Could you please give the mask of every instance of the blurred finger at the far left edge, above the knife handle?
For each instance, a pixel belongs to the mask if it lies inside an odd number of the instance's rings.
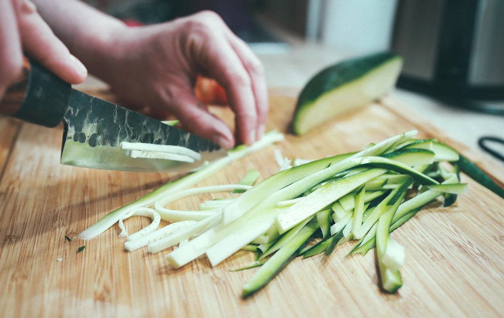
[[[14,9],[10,1],[0,1],[0,99],[21,72],[22,49]]]

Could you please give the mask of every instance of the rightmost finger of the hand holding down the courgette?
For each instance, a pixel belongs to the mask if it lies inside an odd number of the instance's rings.
[[[259,58],[250,50],[250,48],[241,39],[229,31],[229,43],[240,58],[248,76],[251,80],[254,98],[256,100],[257,111],[257,140],[263,137],[265,123],[268,118],[268,89],[264,79],[264,69]]]

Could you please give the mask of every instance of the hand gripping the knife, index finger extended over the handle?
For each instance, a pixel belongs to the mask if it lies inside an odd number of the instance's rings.
[[[64,81],[84,81],[86,68],[52,33],[33,3],[0,1],[0,21],[0,99],[21,73],[23,52]]]

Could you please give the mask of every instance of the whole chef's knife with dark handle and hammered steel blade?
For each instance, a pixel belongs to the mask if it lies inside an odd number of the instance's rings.
[[[210,140],[72,89],[37,62],[25,60],[23,76],[11,85],[0,110],[25,121],[55,127],[64,122],[61,163],[123,171],[189,171],[226,155]],[[174,145],[201,154],[193,163],[132,158],[121,142]]]

